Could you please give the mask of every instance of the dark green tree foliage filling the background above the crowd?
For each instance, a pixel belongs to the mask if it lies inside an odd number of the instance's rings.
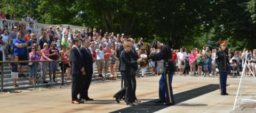
[[[256,48],[256,0],[4,0],[0,8],[41,23],[157,38],[175,49],[218,48],[220,40],[232,49]]]

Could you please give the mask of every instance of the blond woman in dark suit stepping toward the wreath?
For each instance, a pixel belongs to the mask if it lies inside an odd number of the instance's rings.
[[[131,42],[126,42],[124,44],[124,50],[122,51],[120,55],[120,60],[121,60],[121,67],[120,67],[120,72],[123,75],[124,81],[126,83],[125,85],[125,101],[126,105],[133,106],[133,102],[135,101],[134,97],[134,92],[132,90],[132,83],[131,83],[131,68],[132,67],[138,67],[138,63],[142,62],[143,59],[139,60],[131,60],[131,55],[130,51],[132,48],[132,43]],[[122,89],[121,89],[122,90]]]

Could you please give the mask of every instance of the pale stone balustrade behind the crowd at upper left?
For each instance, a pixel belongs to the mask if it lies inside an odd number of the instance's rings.
[[[8,25],[8,29],[11,30],[12,27],[14,26],[15,22],[19,22],[19,24],[21,23],[25,23],[26,24],[26,28],[29,27],[29,22],[22,22],[22,21],[16,21],[16,20],[7,20],[7,19],[1,19],[0,20],[0,25],[2,27],[3,25],[3,20],[5,20],[7,22]],[[62,34],[64,34],[64,32],[66,31],[66,28],[69,26],[73,32],[75,32],[76,30],[78,31],[82,31],[83,28],[85,28],[86,32],[87,32],[87,27],[80,27],[80,26],[76,26],[76,25],[69,25],[69,24],[44,24],[44,23],[34,23],[34,33],[36,34],[37,37],[41,36],[41,29],[49,29],[50,25],[52,25],[53,30],[55,27],[59,26],[61,29],[61,26],[63,27],[62,30]],[[64,35],[63,35],[64,36]]]

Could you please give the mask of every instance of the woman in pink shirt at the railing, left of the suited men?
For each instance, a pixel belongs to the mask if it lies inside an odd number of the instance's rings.
[[[43,45],[43,49],[41,50],[41,58],[40,60],[52,60],[49,58],[49,50],[48,50],[48,44],[47,43],[44,43]],[[43,76],[43,83],[48,83],[46,82],[46,70],[47,70],[47,67],[48,67],[48,63],[47,62],[41,62],[40,63],[41,65],[41,75]],[[51,76],[50,76],[51,77]]]

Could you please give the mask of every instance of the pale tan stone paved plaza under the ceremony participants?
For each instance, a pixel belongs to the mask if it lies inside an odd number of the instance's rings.
[[[94,101],[71,104],[70,86],[55,86],[52,89],[22,90],[21,93],[0,95],[0,112],[234,112],[233,104],[239,83],[238,78],[228,79],[230,95],[219,94],[218,77],[174,76],[173,92],[175,106],[157,105],[159,76],[137,79],[137,98],[141,103],[126,106],[124,101],[116,103],[113,95],[120,89],[120,81],[95,81],[90,87],[89,97]],[[245,78],[244,98],[255,98],[256,82]],[[238,112],[256,112],[253,102],[243,104]]]

